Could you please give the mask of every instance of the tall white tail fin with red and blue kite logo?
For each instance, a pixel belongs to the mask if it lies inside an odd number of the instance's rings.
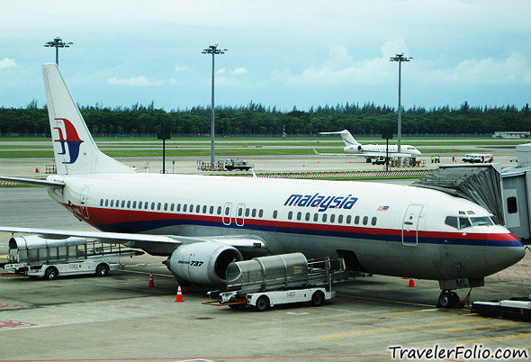
[[[55,63],[42,65],[58,175],[134,172],[96,146]]]

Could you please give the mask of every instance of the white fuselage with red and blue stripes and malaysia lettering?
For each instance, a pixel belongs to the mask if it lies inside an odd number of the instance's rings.
[[[66,184],[62,193],[50,190],[52,197],[101,231],[253,235],[271,254],[339,255],[354,269],[437,280],[487,276],[523,256],[500,225],[464,231],[445,222],[462,213],[488,217],[481,206],[419,187],[155,174],[49,180]]]

